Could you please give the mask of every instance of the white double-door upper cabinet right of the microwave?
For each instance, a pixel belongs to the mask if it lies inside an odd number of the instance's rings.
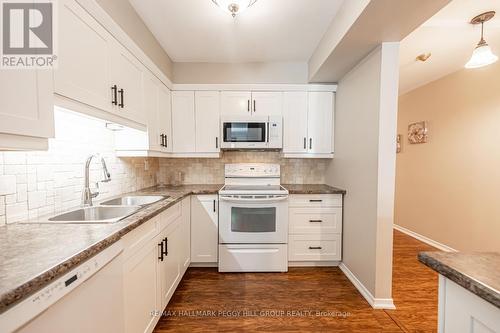
[[[284,93],[285,157],[333,156],[333,98],[332,92]]]

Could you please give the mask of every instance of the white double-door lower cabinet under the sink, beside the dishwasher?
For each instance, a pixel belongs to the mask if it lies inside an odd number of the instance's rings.
[[[152,332],[190,263],[190,198],[123,237],[125,332]]]

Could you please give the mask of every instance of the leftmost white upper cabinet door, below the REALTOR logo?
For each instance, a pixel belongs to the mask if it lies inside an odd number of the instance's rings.
[[[2,70],[0,133],[54,136],[51,70]]]

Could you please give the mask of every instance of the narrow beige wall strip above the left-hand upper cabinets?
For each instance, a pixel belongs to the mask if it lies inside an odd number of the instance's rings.
[[[97,3],[172,81],[172,60],[128,0],[97,0]]]

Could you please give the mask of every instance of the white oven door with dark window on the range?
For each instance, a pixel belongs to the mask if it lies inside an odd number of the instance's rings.
[[[219,243],[286,244],[288,196],[219,196]]]

